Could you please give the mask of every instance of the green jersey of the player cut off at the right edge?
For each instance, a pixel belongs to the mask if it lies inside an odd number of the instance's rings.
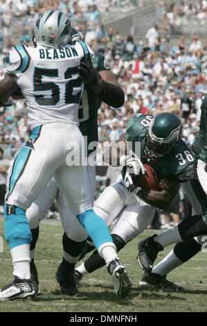
[[[199,133],[191,145],[192,151],[200,160],[207,162],[207,96],[201,103],[201,121]]]

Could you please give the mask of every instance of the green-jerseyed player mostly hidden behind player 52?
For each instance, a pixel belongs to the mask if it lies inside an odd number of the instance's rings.
[[[75,31],[72,31],[72,34]],[[77,39],[77,31],[72,38],[72,41]],[[80,37],[79,37],[80,40]],[[91,89],[84,89],[82,95],[82,105],[79,108],[79,117],[80,117],[80,131],[82,135],[87,136],[87,143],[98,145],[98,108],[102,101],[109,105],[113,105],[116,108],[119,108],[124,101],[124,92],[118,85],[118,82],[115,76],[111,73],[109,64],[102,53],[94,53],[92,58],[93,67],[99,71],[102,80],[109,81],[111,87],[114,89],[113,96],[110,99],[107,99],[107,96],[102,97],[102,100],[95,92],[91,92]],[[123,96],[122,93],[123,92]],[[112,94],[111,94],[112,95]],[[118,97],[118,99],[117,99]],[[123,100],[121,99],[123,97]],[[114,101],[112,103],[111,101]],[[82,112],[84,114],[82,115]],[[96,147],[96,146],[95,146]],[[94,151],[87,151],[87,155],[94,155]],[[87,175],[89,177],[90,185],[90,194],[91,194],[91,203],[93,203],[94,193],[95,193],[95,184],[96,184],[96,166],[87,165]],[[62,263],[57,269],[56,280],[60,284],[62,293],[67,295],[74,295],[78,293],[77,285],[73,282],[73,266],[78,261],[82,249],[84,248],[85,241],[82,241],[80,237],[79,227],[77,228],[77,219],[73,216],[69,205],[67,205],[66,200],[62,193],[58,191],[57,185],[54,178],[48,183],[46,188],[39,194],[35,202],[27,209],[26,217],[30,223],[30,229],[33,234],[33,241],[30,244],[30,272],[33,284],[36,284],[38,288],[38,275],[37,268],[35,266],[35,246],[39,236],[39,222],[44,218],[45,213],[51,207],[53,200],[57,201],[58,212],[60,212],[60,219],[64,227],[64,235],[62,238],[63,243],[63,258]],[[85,232],[85,239],[88,235]],[[121,284],[120,284],[121,286]],[[39,291],[37,289],[37,291]]]

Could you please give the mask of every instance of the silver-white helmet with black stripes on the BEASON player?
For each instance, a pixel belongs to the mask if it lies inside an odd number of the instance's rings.
[[[35,40],[39,45],[59,48],[67,44],[71,37],[71,22],[59,10],[48,10],[42,14],[35,25]]]

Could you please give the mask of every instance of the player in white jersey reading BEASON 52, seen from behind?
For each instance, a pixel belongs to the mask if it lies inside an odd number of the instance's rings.
[[[36,46],[12,48],[8,53],[6,75],[0,82],[0,103],[7,101],[18,86],[21,88],[32,130],[8,177],[5,236],[10,246],[15,280],[1,289],[0,300],[35,295],[30,281],[32,236],[26,209],[53,177],[66,196],[73,215],[104,257],[114,284],[117,279],[125,283],[125,291],[117,294],[123,297],[132,289],[107,224],[93,212],[87,172],[80,164],[84,146],[78,128],[80,96],[84,85],[95,87],[96,92],[101,93],[107,92],[107,83],[103,86],[96,71],[85,69],[93,55],[89,46],[81,41],[68,44],[70,37],[71,24],[64,13],[58,10],[44,12],[35,26]],[[80,157],[80,161],[73,165],[68,160],[70,151]],[[81,233],[84,239],[85,234],[80,228]]]

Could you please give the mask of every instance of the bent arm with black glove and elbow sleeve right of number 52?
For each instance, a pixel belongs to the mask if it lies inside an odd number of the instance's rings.
[[[120,108],[125,103],[125,93],[110,71],[100,71],[98,73],[91,60],[85,59],[81,60],[78,71],[84,80],[85,86],[91,87],[103,102],[113,108]]]

